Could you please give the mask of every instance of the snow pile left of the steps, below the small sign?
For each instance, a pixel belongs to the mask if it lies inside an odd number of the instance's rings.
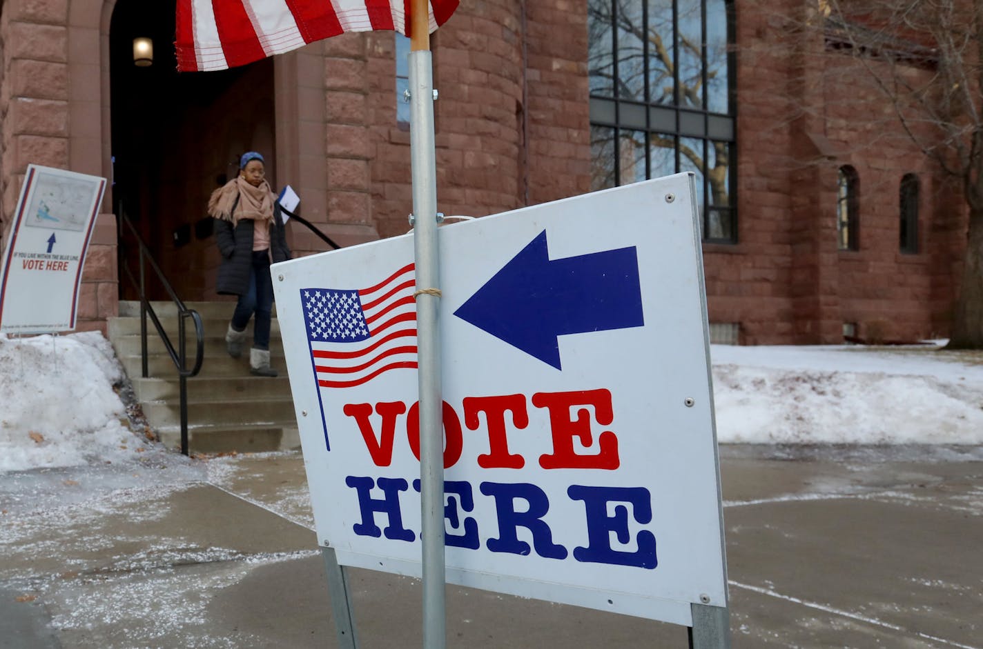
[[[0,471],[132,460],[145,440],[130,431],[113,390],[124,378],[99,332],[0,337]]]

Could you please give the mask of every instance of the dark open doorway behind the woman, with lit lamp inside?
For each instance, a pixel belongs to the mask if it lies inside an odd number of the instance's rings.
[[[218,263],[205,206],[238,171],[238,155],[260,150],[275,185],[273,64],[178,73],[174,2],[119,0],[110,24],[113,211],[133,221],[179,297],[214,297]],[[134,38],[149,37],[153,61],[134,61]],[[136,272],[137,247],[120,241],[120,263]],[[167,298],[148,284],[151,299]],[[120,297],[136,291],[120,268]]]

